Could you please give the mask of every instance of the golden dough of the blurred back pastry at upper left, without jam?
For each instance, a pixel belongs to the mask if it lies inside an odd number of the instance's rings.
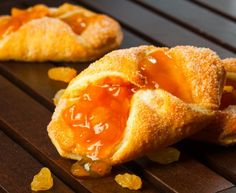
[[[96,19],[80,35],[58,18],[34,19],[0,38],[0,60],[92,61],[119,47],[123,33],[118,22],[80,6],[65,6]],[[53,14],[56,8],[49,10]],[[1,16],[0,21],[8,17]]]

